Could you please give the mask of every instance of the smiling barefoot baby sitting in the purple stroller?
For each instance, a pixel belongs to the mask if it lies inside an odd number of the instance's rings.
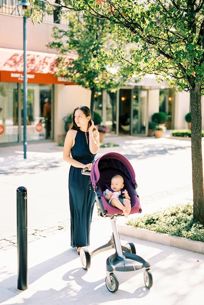
[[[111,190],[106,189],[103,195],[112,207],[122,210],[127,218],[131,211],[131,202],[128,191],[121,191],[123,188],[124,179],[121,175],[116,174],[111,178]]]

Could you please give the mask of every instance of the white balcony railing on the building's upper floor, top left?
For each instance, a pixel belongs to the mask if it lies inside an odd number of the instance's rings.
[[[56,0],[57,2],[57,0]],[[16,0],[0,0],[0,13],[2,14],[8,14],[8,15],[14,15],[19,16],[17,4],[19,1]],[[40,3],[40,1],[37,3],[40,8],[44,8],[45,4],[43,2]],[[50,23],[57,23],[62,25],[68,25],[68,19],[61,17],[60,19],[57,19],[57,10],[53,13],[43,13],[42,20],[44,22],[50,22]]]

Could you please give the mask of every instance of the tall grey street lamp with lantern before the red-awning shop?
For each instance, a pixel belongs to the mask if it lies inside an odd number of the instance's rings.
[[[23,18],[23,152],[24,159],[27,153],[27,28],[26,20],[32,14],[31,4],[22,1],[17,4],[19,16]],[[21,8],[21,12],[19,10]]]

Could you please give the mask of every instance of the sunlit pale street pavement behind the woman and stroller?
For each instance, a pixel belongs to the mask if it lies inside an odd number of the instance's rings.
[[[117,147],[100,149],[97,157],[119,152],[132,164],[143,213],[177,203],[192,202],[190,141],[166,138],[107,137]],[[56,143],[0,148],[0,248],[16,247],[16,195],[28,193],[28,239],[69,228],[67,180],[69,165]],[[179,171],[178,171],[179,169]],[[165,198],[165,200],[164,200]],[[137,214],[135,215],[137,217]],[[125,218],[120,219],[120,222]]]

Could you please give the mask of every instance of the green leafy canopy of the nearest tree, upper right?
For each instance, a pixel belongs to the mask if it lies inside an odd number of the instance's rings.
[[[128,70],[132,72],[132,75],[142,74],[143,71],[143,75],[155,73],[159,78],[162,75],[171,84],[179,87],[182,84],[182,89],[185,90],[188,90],[192,83],[198,83],[201,80],[204,86],[202,78],[204,6],[199,6],[199,2],[194,0],[181,3],[161,0],[151,2],[145,0],[142,3],[132,0],[65,0],[64,4],[63,11],[65,12],[67,9],[69,18],[71,10],[81,13],[89,11],[93,15],[92,20],[91,17],[89,19],[86,17],[84,24],[77,16],[75,16],[75,20],[71,18],[70,27],[73,29],[75,27],[75,32],[70,31],[71,40],[66,46],[67,50],[74,49],[74,45],[80,45],[80,38],[86,51],[82,52],[82,48],[81,51],[78,48],[77,53],[79,56],[92,57],[92,66],[104,69],[107,63],[110,65],[111,61],[115,60],[119,63],[123,62],[124,72],[122,72],[122,66],[119,70],[123,75],[126,75]],[[80,29],[78,33],[77,19]],[[106,28],[103,27],[103,24],[106,24]],[[97,39],[97,28],[101,45]],[[89,36],[85,29],[88,30]],[[101,30],[104,34],[106,32],[104,37],[108,35],[108,31],[110,35],[111,33],[115,35],[117,31],[120,39],[125,40],[126,43],[123,47],[117,43],[112,46],[109,44],[111,41],[109,38],[106,38],[108,43],[105,43],[100,34]],[[129,44],[133,46],[131,55]],[[60,48],[59,45],[56,47]],[[101,49],[107,50],[108,48],[110,50],[106,55],[101,52]],[[87,50],[93,52],[89,53]],[[76,50],[74,51],[76,52]],[[63,50],[63,52],[65,51]],[[97,61],[97,64],[93,64],[94,60]],[[182,78],[183,80],[181,80]]]

